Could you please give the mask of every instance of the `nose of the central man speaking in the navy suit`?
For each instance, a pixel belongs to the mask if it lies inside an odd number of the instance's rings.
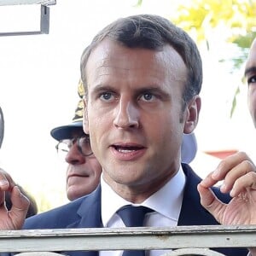
[[[139,126],[139,110],[135,104],[120,100],[113,125],[123,129],[137,128]]]

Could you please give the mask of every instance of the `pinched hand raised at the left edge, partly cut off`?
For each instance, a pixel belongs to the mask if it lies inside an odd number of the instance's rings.
[[[5,207],[5,191],[10,191],[12,207]],[[15,185],[12,177],[0,169],[0,230],[19,230],[24,224],[29,201]]]

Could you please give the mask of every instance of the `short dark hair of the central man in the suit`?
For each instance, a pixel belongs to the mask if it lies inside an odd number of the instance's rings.
[[[96,34],[81,56],[81,78],[84,91],[87,91],[85,67],[90,53],[104,38],[110,38],[129,48],[161,50],[170,44],[183,58],[188,70],[188,78],[183,91],[183,102],[198,95],[201,91],[202,65],[201,55],[192,38],[170,20],[158,15],[132,15],[113,21]]]

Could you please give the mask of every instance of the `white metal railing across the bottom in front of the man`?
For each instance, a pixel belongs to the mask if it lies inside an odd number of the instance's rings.
[[[0,231],[1,253],[176,248],[168,255],[222,255],[207,248],[255,245],[256,225]]]

